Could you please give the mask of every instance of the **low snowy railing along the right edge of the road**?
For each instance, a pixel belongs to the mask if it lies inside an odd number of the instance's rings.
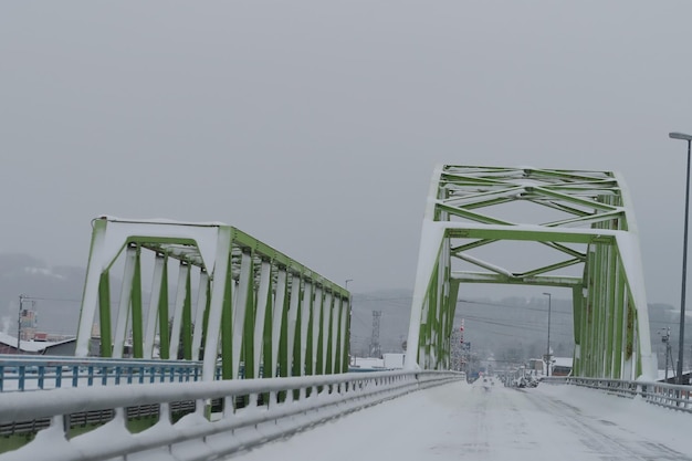
[[[692,386],[579,377],[545,378],[544,381],[555,384],[565,383],[591,389],[600,389],[623,397],[639,397],[649,404],[692,412]]]

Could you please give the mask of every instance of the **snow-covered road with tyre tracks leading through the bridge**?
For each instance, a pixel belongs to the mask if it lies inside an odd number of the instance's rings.
[[[574,386],[455,383],[390,400],[232,458],[690,460],[692,415]]]

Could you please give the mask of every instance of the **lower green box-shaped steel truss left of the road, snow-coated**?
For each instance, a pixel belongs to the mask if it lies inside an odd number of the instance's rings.
[[[111,276],[116,266],[122,280]],[[201,357],[205,380],[214,379],[218,362],[223,379],[342,373],[349,300],[233,227],[102,217],[93,221],[76,355]],[[99,350],[90,350],[93,337]]]

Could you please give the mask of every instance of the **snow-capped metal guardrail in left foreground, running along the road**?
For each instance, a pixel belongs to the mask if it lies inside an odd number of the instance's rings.
[[[306,427],[462,378],[453,371],[378,371],[295,378],[63,388],[0,395],[0,426],[49,420],[27,446],[0,461],[214,460]],[[221,402],[212,410],[212,402]],[[242,405],[239,405],[242,401]],[[171,422],[174,406],[192,412]],[[127,430],[133,409],[154,409],[158,422]],[[74,438],[77,415],[112,411],[112,420]]]

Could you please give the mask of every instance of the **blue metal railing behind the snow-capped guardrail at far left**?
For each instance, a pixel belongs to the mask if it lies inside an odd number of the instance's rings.
[[[220,368],[217,370],[219,375]],[[201,362],[0,355],[0,392],[119,384],[187,383]]]

